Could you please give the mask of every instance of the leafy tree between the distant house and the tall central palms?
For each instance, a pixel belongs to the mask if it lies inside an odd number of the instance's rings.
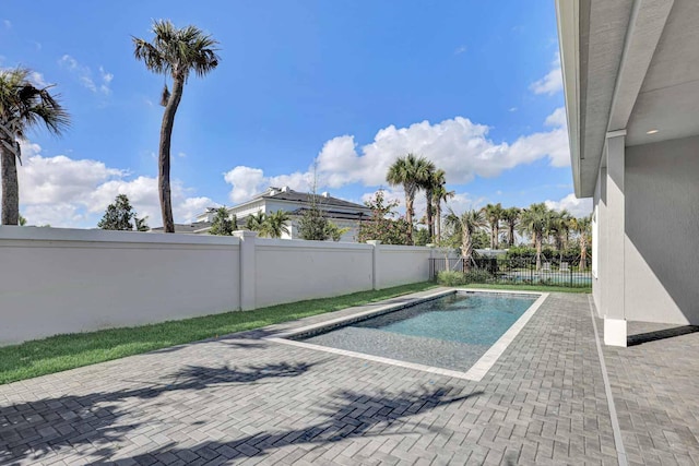
[[[413,243],[407,220],[403,217],[394,218],[398,215],[394,212],[398,201],[386,203],[383,190],[378,190],[365,205],[371,210],[371,218],[359,223],[359,242],[378,240],[384,244]]]

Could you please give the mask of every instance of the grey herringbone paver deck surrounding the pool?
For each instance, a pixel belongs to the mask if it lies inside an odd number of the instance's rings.
[[[617,464],[588,296],[481,382],[261,339],[336,315],[2,385],[0,464]],[[604,348],[630,463],[699,464],[698,350]]]

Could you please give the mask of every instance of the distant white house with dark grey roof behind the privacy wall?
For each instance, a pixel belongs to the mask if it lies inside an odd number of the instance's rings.
[[[252,214],[259,212],[271,214],[276,211],[288,212],[291,216],[291,225],[287,225],[289,234],[283,234],[282,238],[297,239],[299,238],[298,222],[304,211],[310,208],[312,195],[313,194],[294,191],[288,187],[270,188],[251,200],[228,208],[228,213],[232,216],[236,216],[238,228],[242,229],[248,217]],[[366,205],[333,198],[328,192],[317,194],[316,198],[320,210],[330,222],[340,228],[350,228],[350,230],[342,236],[341,241],[356,241],[359,232],[359,223],[371,216],[371,210]],[[215,215],[216,208],[209,207],[197,216],[197,222],[190,225],[176,225],[176,232],[180,232],[178,231],[178,227],[190,229],[191,231],[189,232],[208,232]]]

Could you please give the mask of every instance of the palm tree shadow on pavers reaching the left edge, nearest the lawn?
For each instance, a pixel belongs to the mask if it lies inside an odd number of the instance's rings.
[[[25,457],[39,459],[55,447],[92,443],[99,455],[114,454],[111,443],[140,423],[120,423],[135,401],[166,392],[198,391],[222,384],[251,384],[263,379],[298,377],[316,363],[274,363],[244,368],[188,366],[149,385],[88,395],[67,395],[0,407],[0,464]]]

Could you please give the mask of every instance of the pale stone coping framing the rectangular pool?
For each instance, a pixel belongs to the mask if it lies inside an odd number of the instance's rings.
[[[488,348],[488,350],[481,358],[478,358],[478,360],[465,372],[434,367],[434,366],[420,365],[417,362],[401,361],[398,359],[384,358],[381,356],[367,355],[365,353],[351,351],[347,349],[332,348],[329,346],[315,345],[311,343],[291,339],[294,337],[311,335],[313,333],[317,333],[317,331],[319,330],[331,331],[336,327],[341,327],[354,322],[359,322],[359,321],[364,321],[366,319],[375,318],[389,312],[394,312],[411,306],[418,304],[420,302],[431,301],[434,299],[438,299],[443,296],[448,296],[457,292],[460,292],[460,294],[485,292],[489,295],[534,295],[534,296],[538,296],[538,298],[536,298],[536,300],[526,309],[526,311],[524,311],[524,313],[520,315],[520,318],[512,325],[510,325],[510,327],[500,336],[500,338],[498,338],[498,340],[495,342]],[[534,313],[544,303],[544,301],[548,298],[548,296],[549,296],[548,292],[541,292],[541,291],[479,289],[479,288],[448,288],[448,289],[442,289],[440,291],[433,292],[429,295],[415,297],[414,299],[411,299],[405,302],[387,304],[377,309],[359,311],[351,315],[344,315],[342,318],[331,319],[324,322],[319,322],[319,323],[306,325],[299,328],[294,328],[288,332],[283,332],[271,337],[265,337],[264,339],[269,342],[281,343],[284,345],[296,346],[300,348],[332,353],[335,355],[348,356],[357,359],[364,359],[364,360],[369,360],[374,362],[381,362],[381,363],[398,366],[406,369],[414,369],[423,372],[430,372],[439,375],[451,377],[455,379],[463,379],[463,380],[479,382],[481,380],[483,380],[485,374],[488,373],[490,368],[496,363],[498,358],[505,353],[505,350],[517,337],[517,335],[522,331],[522,328],[524,328],[524,325],[526,325],[530,319],[532,319]],[[405,298],[410,298],[410,297],[411,295],[405,296]]]

